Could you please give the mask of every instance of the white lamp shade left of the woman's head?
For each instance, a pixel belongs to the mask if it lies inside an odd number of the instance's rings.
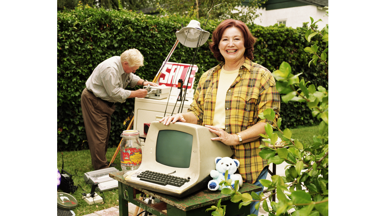
[[[205,44],[210,37],[210,32],[203,30],[201,28],[201,23],[193,19],[187,26],[176,31],[175,35],[181,44],[187,47],[195,48]]]

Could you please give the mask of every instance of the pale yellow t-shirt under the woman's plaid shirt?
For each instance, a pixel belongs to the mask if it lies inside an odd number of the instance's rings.
[[[225,100],[226,93],[229,90],[231,84],[239,74],[239,70],[227,71],[223,67],[220,71],[218,90],[217,90],[217,101],[215,102],[215,110],[213,117],[213,126],[225,129],[226,111],[225,111]]]

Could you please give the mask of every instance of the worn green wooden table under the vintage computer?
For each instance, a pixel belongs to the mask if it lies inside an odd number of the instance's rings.
[[[110,177],[118,180],[119,187],[119,216],[128,216],[128,202],[135,204],[147,210],[148,212],[157,215],[199,215],[199,216],[210,216],[212,211],[207,211],[206,209],[212,205],[216,205],[219,199],[222,198],[221,204],[226,205],[226,215],[237,215],[237,214],[250,214],[250,205],[242,206],[239,209],[239,203],[232,202],[231,196],[226,194],[221,194],[221,191],[211,191],[209,189],[202,189],[190,195],[187,195],[183,198],[178,198],[175,196],[158,193],[143,189],[134,185],[130,185],[128,181],[123,178],[123,171],[112,172],[109,174]],[[250,183],[243,183],[243,186],[240,188],[240,192],[252,191],[257,192],[261,191],[260,186],[256,186]],[[155,198],[158,198],[161,202],[155,204],[147,204],[142,200],[136,198],[137,194],[141,193],[148,194]],[[138,212],[139,213],[139,212]],[[136,216],[136,215],[133,215]]]

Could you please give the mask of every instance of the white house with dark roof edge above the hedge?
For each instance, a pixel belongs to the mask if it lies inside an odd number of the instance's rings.
[[[243,5],[247,5],[250,0],[242,2]],[[309,22],[310,17],[317,21],[318,29],[322,29],[329,23],[329,17],[325,16],[329,5],[328,0],[267,0],[262,8],[258,9],[261,13],[258,18],[254,20],[254,23],[269,26],[278,24],[285,24],[288,27],[302,27],[303,22]]]

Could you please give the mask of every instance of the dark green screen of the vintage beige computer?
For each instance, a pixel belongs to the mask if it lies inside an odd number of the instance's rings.
[[[193,149],[193,135],[178,130],[159,130],[156,139],[156,162],[177,168],[188,168],[191,149]]]

